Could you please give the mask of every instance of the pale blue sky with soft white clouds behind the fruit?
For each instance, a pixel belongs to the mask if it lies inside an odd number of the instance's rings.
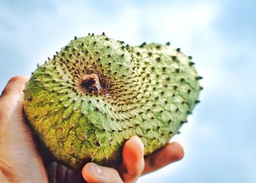
[[[138,182],[256,182],[256,1],[0,0],[0,90],[74,36],[171,42],[204,79],[178,141],[182,161]]]

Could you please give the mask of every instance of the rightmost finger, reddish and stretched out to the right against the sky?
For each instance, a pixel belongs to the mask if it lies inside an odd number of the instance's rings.
[[[184,150],[179,143],[169,143],[165,147],[145,158],[145,169],[143,174],[155,171],[167,164],[173,163],[174,161],[178,161],[182,159],[183,156]]]

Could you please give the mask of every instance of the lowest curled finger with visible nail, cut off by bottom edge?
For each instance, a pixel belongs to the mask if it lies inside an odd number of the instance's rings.
[[[123,182],[120,175],[114,168],[99,166],[95,163],[87,163],[82,170],[84,179],[90,182]]]

